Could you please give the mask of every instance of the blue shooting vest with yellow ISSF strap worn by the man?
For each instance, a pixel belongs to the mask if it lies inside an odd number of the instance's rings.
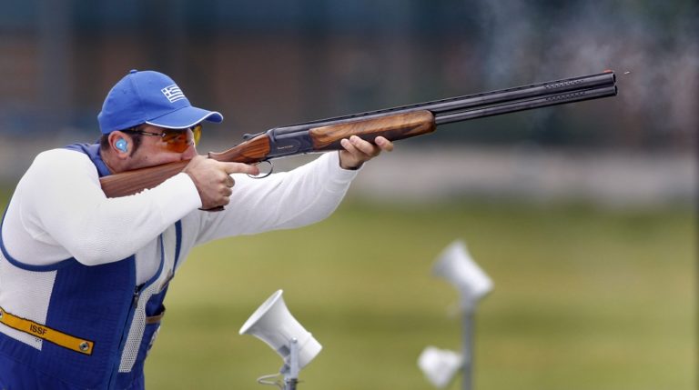
[[[100,177],[110,174],[99,155],[99,145],[66,148],[88,155]],[[46,322],[34,323],[22,318],[21,313],[13,313],[12,308],[0,307],[0,331],[8,325],[37,338],[65,334],[69,340],[56,344],[43,338],[38,349],[0,332],[0,389],[143,388],[144,361],[157,335],[165,311],[167,285],[179,257],[181,223],[177,222],[171,235],[176,245],[175,255],[166,267],[163,235],[158,238],[157,273],[144,285],[136,282],[136,255],[105,265],[87,266],[75,258],[55,265],[28,265],[7,253],[0,235],[0,249],[5,257],[0,261],[18,268],[13,272],[20,273],[28,282],[22,284],[23,291],[13,294],[31,295],[32,277],[55,273]],[[0,292],[2,289],[0,285]],[[22,324],[28,324],[29,330],[19,329]],[[71,341],[70,337],[81,343]]]

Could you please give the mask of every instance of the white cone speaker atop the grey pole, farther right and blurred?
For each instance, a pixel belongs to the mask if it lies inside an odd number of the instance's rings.
[[[459,290],[464,307],[475,305],[492,290],[491,278],[473,261],[461,240],[454,241],[442,251],[432,272]]]

